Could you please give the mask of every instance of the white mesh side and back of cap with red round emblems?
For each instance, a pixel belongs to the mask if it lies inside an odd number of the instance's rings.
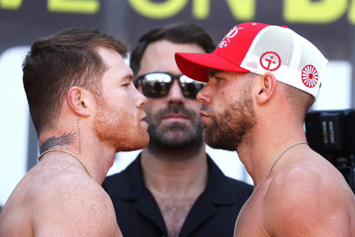
[[[277,56],[265,54],[267,52],[279,55],[280,65]],[[271,71],[276,80],[317,98],[327,63],[328,60],[307,39],[291,29],[268,26],[257,34],[240,66],[260,75]],[[304,70],[307,65],[310,66]]]

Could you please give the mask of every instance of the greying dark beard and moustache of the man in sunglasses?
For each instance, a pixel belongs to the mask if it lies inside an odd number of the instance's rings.
[[[162,119],[169,113],[185,115],[191,120],[192,125],[181,122],[173,122],[162,125]],[[147,110],[149,144],[147,149],[157,158],[170,158],[184,160],[193,158],[200,152],[202,140],[202,123],[200,116],[191,109],[181,105],[170,105],[160,109],[156,114]]]

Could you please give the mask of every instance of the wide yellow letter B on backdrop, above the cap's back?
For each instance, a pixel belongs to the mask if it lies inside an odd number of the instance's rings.
[[[284,0],[283,17],[292,23],[331,23],[342,17],[348,0]]]

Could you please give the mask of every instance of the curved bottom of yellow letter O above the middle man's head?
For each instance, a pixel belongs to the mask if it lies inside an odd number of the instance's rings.
[[[153,2],[151,0],[128,0],[131,7],[142,16],[152,19],[165,19],[178,14],[188,0],[166,0]]]

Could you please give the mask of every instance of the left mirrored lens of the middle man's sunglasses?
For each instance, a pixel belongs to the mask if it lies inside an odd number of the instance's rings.
[[[166,96],[169,91],[171,77],[165,73],[151,73],[142,80],[143,94],[148,97]]]

